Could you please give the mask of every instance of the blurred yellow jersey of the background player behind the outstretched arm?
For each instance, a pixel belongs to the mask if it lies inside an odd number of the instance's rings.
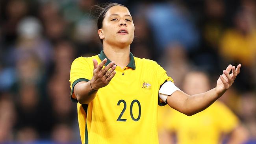
[[[239,123],[237,116],[219,101],[193,116],[174,109],[168,115],[163,118],[168,122],[165,128],[176,133],[178,144],[219,144],[222,134],[230,133]]]

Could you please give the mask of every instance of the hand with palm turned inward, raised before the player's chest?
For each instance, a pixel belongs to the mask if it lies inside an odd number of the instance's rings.
[[[103,69],[102,67],[107,62],[107,59],[103,59],[103,61],[98,65],[98,62],[96,59],[93,59],[93,78],[91,78],[90,83],[93,90],[98,90],[102,87],[105,87],[108,85],[108,83],[111,81],[111,79],[115,76],[115,68],[117,67],[115,65],[114,61],[111,61],[107,66],[105,66]],[[109,70],[110,69],[110,70]]]

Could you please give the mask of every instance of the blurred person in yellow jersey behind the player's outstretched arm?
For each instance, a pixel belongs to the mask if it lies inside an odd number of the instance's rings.
[[[203,72],[189,72],[184,78],[183,90],[189,95],[209,89],[210,81]],[[178,144],[217,144],[223,141],[222,135],[229,136],[228,144],[242,144],[248,137],[247,130],[239,124],[237,116],[219,101],[193,116],[171,109],[168,115],[160,118],[160,122],[165,123],[164,127],[159,127],[162,144],[174,142],[170,134],[175,134],[174,139]],[[171,141],[163,141],[162,137],[170,137],[163,140]]]

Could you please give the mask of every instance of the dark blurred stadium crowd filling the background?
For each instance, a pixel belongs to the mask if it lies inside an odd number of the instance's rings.
[[[111,0],[110,0],[111,1]],[[91,7],[105,0],[0,0],[0,143],[80,143],[69,72],[99,54]],[[255,0],[115,0],[135,24],[131,52],[157,61],[182,89],[202,70],[211,88],[228,64],[242,64],[221,98],[256,141]]]

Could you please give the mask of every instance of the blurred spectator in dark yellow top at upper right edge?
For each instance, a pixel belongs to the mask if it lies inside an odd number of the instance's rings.
[[[256,57],[256,27],[254,15],[245,7],[237,12],[235,28],[223,34],[220,53],[229,62],[252,66]]]

